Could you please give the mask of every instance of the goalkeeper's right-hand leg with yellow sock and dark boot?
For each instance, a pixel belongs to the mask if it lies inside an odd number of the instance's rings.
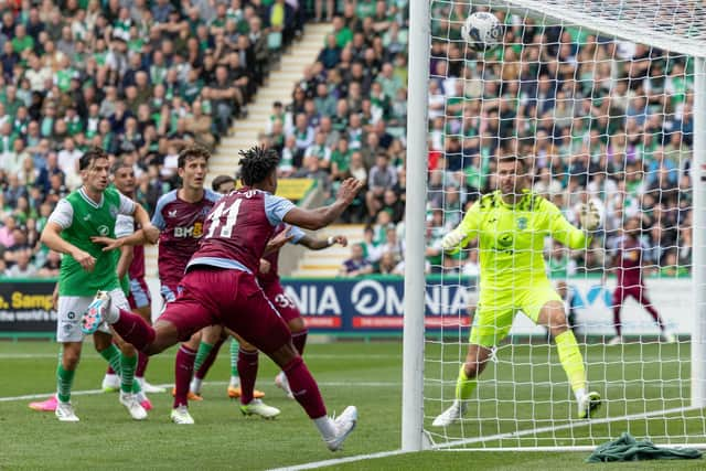
[[[531,309],[527,309],[527,311],[525,312],[532,318]],[[566,322],[564,303],[559,300],[545,302],[539,310],[536,322],[549,330],[556,343],[561,367],[569,379],[578,403],[578,417],[581,419],[589,418],[600,407],[601,397],[598,392],[587,390],[584,357],[576,342],[576,336]]]

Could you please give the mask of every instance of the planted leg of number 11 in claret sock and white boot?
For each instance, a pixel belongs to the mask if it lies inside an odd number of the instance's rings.
[[[312,419],[328,448],[332,451],[341,449],[345,438],[355,428],[357,409],[349,406],[335,420],[327,416],[317,382],[291,343],[287,324],[259,288],[255,277],[242,272],[233,278],[232,289],[236,291],[236,299],[233,306],[222,309],[223,323],[282,368],[295,399]]]

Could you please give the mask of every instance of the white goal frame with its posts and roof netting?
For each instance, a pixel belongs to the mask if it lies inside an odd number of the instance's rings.
[[[515,15],[521,20],[533,19],[538,23],[548,22],[559,26],[578,26],[609,40],[620,40],[629,43],[644,44],[649,47],[667,51],[671,54],[688,56],[693,60],[693,158],[691,163],[691,182],[693,202],[692,235],[693,256],[691,261],[691,296],[694,307],[693,330],[691,338],[682,338],[681,345],[691,349],[691,371],[678,376],[678,381],[688,384],[688,390],[683,396],[687,400],[680,407],[665,406],[662,410],[654,410],[645,402],[642,413],[633,413],[625,407],[623,414],[614,411],[603,414],[593,421],[578,422],[573,419],[560,420],[552,417],[552,421],[538,421],[532,426],[532,419],[518,421],[513,429],[502,429],[498,426],[488,437],[471,436],[480,428],[468,427],[463,424],[453,432],[430,432],[429,417],[437,410],[425,410],[425,388],[429,383],[447,392],[453,388],[450,376],[443,375],[443,336],[439,344],[429,344],[425,331],[425,293],[427,288],[425,265],[428,240],[426,237],[428,205],[428,140],[429,140],[429,63],[431,55],[434,21],[432,8],[438,3],[446,3],[452,9],[457,3],[463,3],[467,11],[471,8],[483,8],[491,12],[502,12]],[[470,3],[470,4],[469,4]],[[601,425],[625,424],[627,430],[632,424],[638,424],[637,435],[653,440],[656,445],[706,448],[706,438],[700,441],[688,432],[677,436],[673,440],[668,437],[668,427],[652,436],[655,426],[650,420],[666,417],[666,421],[686,420],[692,411],[698,413],[698,419],[706,429],[706,4],[699,0],[420,0],[409,2],[409,83],[408,83],[408,121],[407,121],[407,205],[405,216],[405,321],[403,350],[403,418],[402,418],[402,449],[418,451],[422,449],[489,449],[489,450],[582,450],[592,449],[608,437],[601,430]],[[447,22],[458,19],[443,19]],[[468,56],[467,56],[468,57]],[[446,113],[446,111],[443,111]],[[443,152],[441,152],[443,153]],[[443,278],[443,275],[441,275]],[[453,278],[453,277],[451,277]],[[459,283],[460,277],[456,279]],[[655,288],[659,290],[660,287]],[[454,342],[458,349],[458,362],[462,362],[468,331],[459,330]],[[427,382],[425,376],[425,350],[441,349],[440,377]],[[639,355],[643,355],[639,345]],[[660,354],[662,350],[656,346]],[[582,352],[588,347],[581,344]],[[456,352],[456,351],[454,351]],[[645,350],[646,352],[646,350]],[[681,352],[677,349],[677,352]],[[678,355],[678,353],[677,353]],[[546,355],[545,355],[546,356]],[[642,356],[639,356],[642,358]],[[646,356],[645,356],[646,357]],[[513,356],[514,358],[514,356]],[[546,361],[546,358],[545,358]],[[688,357],[687,357],[688,361]],[[677,360],[678,362],[678,360]],[[502,362],[501,362],[502,363]],[[547,362],[550,363],[550,362]],[[457,363],[457,365],[460,363]],[[450,368],[451,366],[448,366]],[[666,367],[670,367],[668,365]],[[435,373],[436,374],[436,373]],[[453,376],[454,379],[456,376]],[[492,382],[493,379],[488,379]],[[505,378],[502,385],[509,384]],[[553,379],[552,379],[553,381]],[[565,379],[561,379],[565,381]],[[483,382],[481,376],[480,382]],[[501,385],[501,386],[502,386]],[[664,387],[664,386],[663,386]],[[499,389],[499,387],[496,387]],[[618,389],[618,388],[617,388]],[[624,385],[623,385],[624,389]],[[662,389],[659,394],[664,396]],[[619,394],[617,390],[616,394]],[[682,394],[682,393],[680,393]],[[443,397],[448,399],[448,394]],[[664,399],[664,397],[662,397]],[[489,399],[490,400],[490,399]],[[524,400],[524,398],[522,399]],[[688,404],[691,402],[691,404]],[[496,407],[504,407],[495,402]],[[507,402],[507,404],[510,404]],[[662,404],[667,404],[663,402]],[[506,405],[506,404],[505,404]],[[480,406],[479,406],[480,407]],[[564,406],[561,406],[564,407]],[[655,414],[653,414],[653,411]],[[595,435],[589,433],[597,427]],[[652,427],[652,428],[651,428]],[[686,429],[686,426],[684,426]],[[473,431],[471,431],[473,430]],[[499,431],[500,430],[500,431]],[[614,428],[608,428],[608,433]],[[542,438],[548,433],[547,439]],[[523,441],[523,437],[528,437]],[[535,437],[539,437],[536,438]],[[577,438],[578,437],[578,438]],[[515,441],[505,441],[512,438]],[[490,443],[490,445],[489,445]],[[509,445],[505,445],[509,443]]]

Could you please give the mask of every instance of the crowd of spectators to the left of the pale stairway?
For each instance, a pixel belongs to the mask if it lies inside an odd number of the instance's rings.
[[[149,211],[189,143],[214,149],[300,35],[282,0],[0,3],[0,276],[56,276],[39,242],[89,146],[133,162]]]

